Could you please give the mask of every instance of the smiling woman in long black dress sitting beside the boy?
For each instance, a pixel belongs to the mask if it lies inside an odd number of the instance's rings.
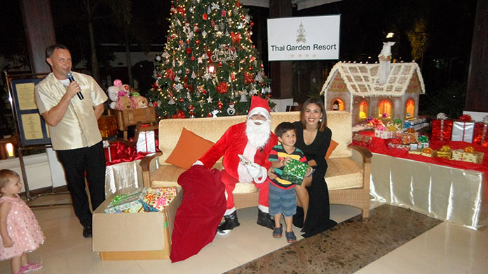
[[[305,101],[300,121],[293,125],[297,134],[295,146],[304,152],[309,166],[314,169],[312,180],[304,180],[304,184],[296,188],[299,206],[293,216],[293,224],[302,227],[302,236],[310,237],[337,224],[330,219],[329,190],[324,179],[327,171],[325,153],[330,145],[332,131],[327,127],[323,102],[320,99]]]

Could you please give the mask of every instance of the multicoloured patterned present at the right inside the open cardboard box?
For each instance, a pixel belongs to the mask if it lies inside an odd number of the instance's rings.
[[[155,212],[164,210],[177,194],[176,187],[148,188],[140,203],[144,211]]]

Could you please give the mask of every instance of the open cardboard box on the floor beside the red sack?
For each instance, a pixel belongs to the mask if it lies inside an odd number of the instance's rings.
[[[121,189],[128,194],[135,188]],[[183,191],[161,212],[105,213],[113,194],[93,212],[93,252],[100,252],[103,261],[168,259],[176,210],[182,203]]]

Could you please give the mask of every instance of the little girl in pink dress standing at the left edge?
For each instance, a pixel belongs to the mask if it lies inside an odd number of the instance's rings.
[[[41,263],[29,264],[27,252],[44,243],[41,226],[29,206],[20,199],[20,177],[15,171],[0,171],[0,260],[11,259],[13,274],[28,273],[42,268]]]

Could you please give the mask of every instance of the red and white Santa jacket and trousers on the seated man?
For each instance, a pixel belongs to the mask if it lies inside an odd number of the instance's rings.
[[[236,183],[252,182],[259,189],[259,208],[264,212],[268,212],[268,184],[255,182],[243,164],[240,163],[238,154],[242,154],[246,159],[254,161],[255,164],[259,164],[259,166],[267,169],[271,166],[271,163],[268,161],[269,152],[278,143],[278,138],[273,133],[270,133],[269,139],[264,147],[254,147],[248,141],[245,128],[245,122],[231,126],[217,143],[203,154],[200,161],[207,168],[212,168],[215,162],[224,156],[222,182],[224,182],[227,192],[227,209],[234,207],[232,192],[236,187]],[[264,182],[265,179],[266,172],[264,172],[264,178],[260,178],[258,182]]]

